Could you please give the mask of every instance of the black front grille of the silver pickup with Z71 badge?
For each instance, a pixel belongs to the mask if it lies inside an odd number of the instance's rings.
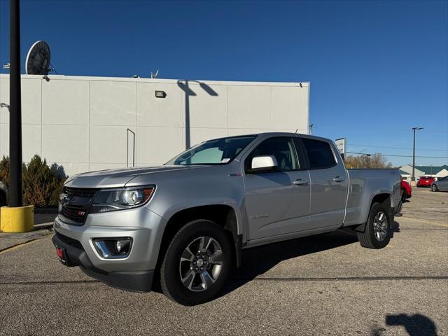
[[[97,189],[64,188],[59,215],[69,224],[83,225]]]

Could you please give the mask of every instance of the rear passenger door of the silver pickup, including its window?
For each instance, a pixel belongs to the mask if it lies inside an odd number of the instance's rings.
[[[328,141],[299,137],[307,155],[311,183],[311,228],[341,225],[344,221],[347,176]]]

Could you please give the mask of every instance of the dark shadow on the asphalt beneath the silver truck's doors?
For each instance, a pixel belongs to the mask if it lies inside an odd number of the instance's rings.
[[[297,258],[302,255],[358,243],[356,234],[345,231],[335,231],[321,235],[281,241],[279,243],[248,248],[243,251],[241,267],[231,276],[228,286],[221,295],[252,281],[260,274],[279,264],[283,260]]]

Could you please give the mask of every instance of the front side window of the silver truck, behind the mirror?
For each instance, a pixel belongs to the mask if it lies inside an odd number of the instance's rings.
[[[252,159],[255,156],[262,155],[273,155],[279,165],[279,171],[285,172],[299,168],[295,146],[291,138],[274,137],[262,141],[246,158],[244,162],[245,168],[251,167]]]

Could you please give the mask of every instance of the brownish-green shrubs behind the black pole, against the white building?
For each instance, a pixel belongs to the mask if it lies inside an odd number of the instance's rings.
[[[9,159],[0,161],[0,179],[8,184]],[[64,168],[57,164],[48,167],[47,161],[34,155],[27,165],[23,165],[23,201],[35,207],[56,207],[59,193],[67,176]]]

